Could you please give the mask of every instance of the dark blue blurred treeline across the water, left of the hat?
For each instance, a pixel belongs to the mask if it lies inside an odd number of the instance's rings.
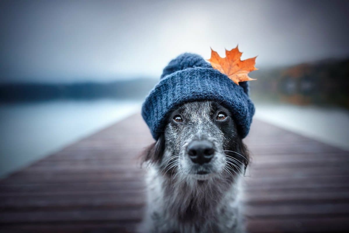
[[[68,84],[11,83],[0,85],[0,102],[36,102],[47,100],[143,99],[156,79],[136,78],[113,82]]]

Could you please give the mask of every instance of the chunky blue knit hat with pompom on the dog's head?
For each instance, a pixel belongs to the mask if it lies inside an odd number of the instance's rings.
[[[248,82],[239,85],[212,68],[201,56],[181,54],[164,68],[160,81],[146,97],[143,119],[157,140],[169,111],[185,102],[216,100],[232,112],[244,138],[250,130],[254,105],[248,97]]]

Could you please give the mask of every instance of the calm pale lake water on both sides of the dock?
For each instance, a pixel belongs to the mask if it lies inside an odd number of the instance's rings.
[[[136,101],[0,105],[0,177],[140,111]],[[256,118],[349,150],[349,111],[256,104]]]

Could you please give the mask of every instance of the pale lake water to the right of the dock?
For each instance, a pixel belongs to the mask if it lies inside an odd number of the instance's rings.
[[[255,118],[349,151],[349,111],[286,104],[258,104]]]

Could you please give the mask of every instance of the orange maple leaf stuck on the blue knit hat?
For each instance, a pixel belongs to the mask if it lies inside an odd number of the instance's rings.
[[[239,51],[238,46],[230,51],[225,50],[225,58],[218,55],[216,51],[211,49],[211,58],[208,61],[212,67],[226,74],[233,82],[239,85],[239,82],[255,80],[248,77],[248,73],[258,70],[254,65],[256,64],[256,57],[240,60],[242,52]]]

